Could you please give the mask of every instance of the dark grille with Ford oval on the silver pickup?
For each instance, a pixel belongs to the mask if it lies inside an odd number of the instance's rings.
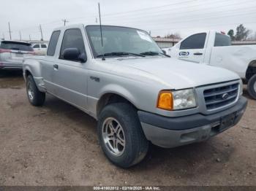
[[[203,91],[206,109],[218,109],[236,101],[239,84],[214,87]]]

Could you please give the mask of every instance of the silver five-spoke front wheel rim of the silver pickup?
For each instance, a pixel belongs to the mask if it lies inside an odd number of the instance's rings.
[[[114,117],[108,117],[102,123],[102,139],[111,155],[118,157],[124,153],[124,129]]]

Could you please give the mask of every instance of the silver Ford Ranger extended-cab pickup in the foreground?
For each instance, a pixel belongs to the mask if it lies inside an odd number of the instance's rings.
[[[233,127],[247,104],[237,74],[168,58],[136,28],[56,28],[23,76],[32,105],[49,93],[94,117],[103,152],[123,168],[143,160],[150,142],[178,147]]]

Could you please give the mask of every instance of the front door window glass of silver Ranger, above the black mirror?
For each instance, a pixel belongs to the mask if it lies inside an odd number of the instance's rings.
[[[80,29],[72,28],[65,31],[61,44],[61,53],[59,56],[60,59],[64,59],[63,53],[67,48],[78,48],[80,53],[86,52]]]

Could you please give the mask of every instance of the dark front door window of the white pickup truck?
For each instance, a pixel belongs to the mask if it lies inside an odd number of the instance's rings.
[[[206,42],[206,33],[194,34],[181,42],[180,49],[203,49]]]

